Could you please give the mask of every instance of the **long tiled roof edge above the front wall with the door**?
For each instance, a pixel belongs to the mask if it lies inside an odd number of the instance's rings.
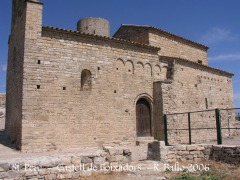
[[[137,42],[133,42],[133,41],[127,41],[127,40],[118,39],[118,38],[99,36],[99,35],[95,35],[95,34],[83,33],[83,32],[74,31],[74,30],[56,28],[56,27],[52,27],[52,26],[43,26],[42,29],[43,30],[48,30],[48,31],[56,31],[56,32],[61,32],[61,33],[68,33],[68,34],[74,34],[74,35],[79,35],[79,36],[85,36],[85,37],[89,37],[89,38],[108,40],[108,41],[113,41],[113,42],[117,42],[117,43],[122,43],[122,44],[127,44],[127,45],[133,45],[133,46],[153,49],[153,50],[157,50],[157,51],[160,50],[159,47],[150,46],[150,45],[147,45],[147,44],[137,43]]]

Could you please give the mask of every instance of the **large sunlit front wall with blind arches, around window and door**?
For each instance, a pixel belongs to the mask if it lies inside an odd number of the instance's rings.
[[[152,102],[153,82],[166,78],[158,49],[49,27],[42,30],[40,5],[28,6],[26,26],[31,32],[26,33],[24,54],[22,150],[135,140],[136,101],[144,97]],[[91,73],[89,91],[81,87],[83,70]]]

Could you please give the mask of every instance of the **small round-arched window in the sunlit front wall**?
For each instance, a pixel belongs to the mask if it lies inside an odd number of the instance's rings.
[[[87,69],[84,69],[81,73],[81,91],[91,90],[92,90],[91,72]]]

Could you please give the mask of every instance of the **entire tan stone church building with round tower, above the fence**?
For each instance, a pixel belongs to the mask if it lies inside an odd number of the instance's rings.
[[[5,132],[22,151],[162,141],[164,113],[233,108],[205,45],[145,25],[110,37],[102,18],[43,26],[41,2],[12,3]]]

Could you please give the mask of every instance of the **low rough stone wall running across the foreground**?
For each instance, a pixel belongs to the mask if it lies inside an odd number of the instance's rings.
[[[154,145],[155,144],[155,145]],[[143,148],[123,148],[123,146],[104,146],[103,150],[89,153],[68,153],[59,155],[40,155],[0,160],[1,179],[79,179],[97,174],[111,174],[114,172],[145,173],[144,163],[136,160],[146,160],[136,157],[143,153],[146,147],[154,151],[148,160],[155,160],[164,166],[176,163],[200,163],[205,160],[222,161],[225,163],[240,163],[239,146],[216,145],[187,145],[164,146],[163,142],[153,142]],[[141,145],[140,145],[141,146]],[[158,148],[156,148],[158,146]],[[129,146],[128,146],[129,147]],[[135,155],[134,155],[135,153]],[[148,153],[149,154],[149,153]],[[156,154],[160,156],[156,156]],[[24,155],[24,153],[22,153]],[[139,169],[138,169],[139,168]]]

